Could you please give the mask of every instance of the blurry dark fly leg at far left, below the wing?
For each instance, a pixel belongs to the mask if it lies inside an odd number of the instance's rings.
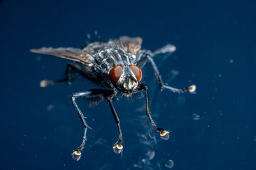
[[[81,74],[81,75],[84,74],[80,65],[73,64],[73,63],[68,63],[68,66],[65,69],[65,78],[58,79],[58,80],[46,80],[45,79],[45,80],[42,80],[40,82],[40,86],[41,87],[46,87],[48,85],[63,83],[63,82],[67,82],[67,81],[68,81],[68,84],[71,84],[71,81],[73,81],[72,71],[77,72],[78,74]]]

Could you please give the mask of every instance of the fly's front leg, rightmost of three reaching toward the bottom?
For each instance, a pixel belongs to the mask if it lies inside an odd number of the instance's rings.
[[[149,102],[149,91],[148,91],[148,88],[146,85],[144,84],[141,84],[139,86],[139,91],[142,91],[144,90],[145,91],[145,94],[146,94],[146,115],[147,117],[149,118],[149,121],[152,125],[152,127],[154,128],[154,130],[156,130],[156,132],[160,132],[160,137],[163,139],[163,140],[169,140],[169,131],[168,130],[164,130],[162,128],[159,128],[156,123],[154,123],[154,120],[152,119],[151,117],[151,113],[150,113],[150,102]]]

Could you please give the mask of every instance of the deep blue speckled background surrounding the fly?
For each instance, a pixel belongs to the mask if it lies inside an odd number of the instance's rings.
[[[169,159],[173,169],[256,169],[255,21],[255,1],[0,1],[0,169],[168,169]],[[70,94],[95,85],[41,88],[42,79],[62,77],[68,61],[28,50],[82,47],[95,30],[100,40],[141,36],[149,50],[176,45],[173,55],[155,59],[162,77],[198,89],[160,91],[146,64],[142,81],[153,118],[171,130],[170,139],[151,130],[143,97],[120,98],[114,106],[124,132],[122,157],[112,152],[117,127],[107,103],[90,108],[78,101],[93,131],[75,162],[70,154],[83,130]],[[171,70],[179,73],[175,79]],[[155,153],[150,161],[148,153]]]

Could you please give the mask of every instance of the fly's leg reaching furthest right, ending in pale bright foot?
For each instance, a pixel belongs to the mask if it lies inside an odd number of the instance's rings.
[[[156,79],[159,81],[159,85],[162,89],[169,89],[169,90],[173,91],[174,93],[184,93],[186,91],[189,91],[190,93],[193,93],[193,92],[196,91],[196,86],[195,85],[191,85],[191,86],[185,87],[183,89],[176,89],[174,87],[165,85],[163,79],[161,78],[161,74],[159,72],[159,69],[156,67],[156,63],[154,62],[153,58],[148,55],[147,59],[149,60],[149,62],[151,62],[151,65],[152,65],[152,67],[154,69],[154,72],[155,72],[155,75],[156,75]]]

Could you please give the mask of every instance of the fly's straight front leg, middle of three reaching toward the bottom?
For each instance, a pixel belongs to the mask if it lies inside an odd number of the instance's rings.
[[[119,137],[118,137],[117,142],[114,144],[113,150],[116,154],[119,154],[119,153],[122,152],[122,149],[123,149],[123,146],[122,146],[122,142],[123,142],[123,140],[122,140],[122,130],[121,130],[121,126],[120,126],[120,120],[117,116],[117,112],[114,110],[112,99],[108,97],[107,102],[110,104],[112,114],[114,115],[114,120],[117,123]]]

